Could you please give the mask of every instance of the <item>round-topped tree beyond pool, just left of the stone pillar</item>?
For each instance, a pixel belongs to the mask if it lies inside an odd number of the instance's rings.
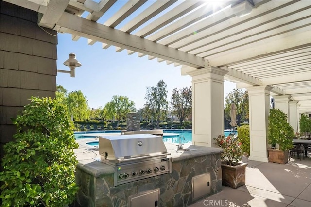
[[[105,108],[107,109],[108,116],[118,121],[117,128],[120,121],[126,118],[127,113],[136,110],[135,103],[126,96],[113,96],[112,100],[105,105]]]

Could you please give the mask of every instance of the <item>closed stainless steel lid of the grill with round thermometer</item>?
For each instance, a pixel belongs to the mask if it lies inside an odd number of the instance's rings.
[[[151,134],[99,137],[99,151],[106,159],[127,159],[167,152],[162,137]]]

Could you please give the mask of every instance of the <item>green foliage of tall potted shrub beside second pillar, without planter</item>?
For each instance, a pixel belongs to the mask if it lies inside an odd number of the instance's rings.
[[[287,114],[280,109],[270,109],[268,124],[268,143],[272,147],[279,145],[280,150],[293,147],[292,140],[295,136],[293,127],[287,122]]]

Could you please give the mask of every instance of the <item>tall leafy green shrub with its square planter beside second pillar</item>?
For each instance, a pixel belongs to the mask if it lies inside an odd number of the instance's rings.
[[[268,120],[268,143],[272,146],[268,149],[269,162],[285,164],[288,150],[293,148],[294,129],[280,109],[270,109]]]

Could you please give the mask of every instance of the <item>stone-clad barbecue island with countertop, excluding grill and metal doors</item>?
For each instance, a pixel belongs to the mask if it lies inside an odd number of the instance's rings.
[[[172,173],[113,186],[114,169],[104,163],[80,162],[76,180],[80,186],[75,206],[127,207],[128,197],[160,189],[160,207],[184,207],[193,203],[192,177],[211,175],[210,194],[222,190],[221,149],[191,146],[197,150],[177,154],[172,151]],[[170,150],[168,150],[170,152]]]

